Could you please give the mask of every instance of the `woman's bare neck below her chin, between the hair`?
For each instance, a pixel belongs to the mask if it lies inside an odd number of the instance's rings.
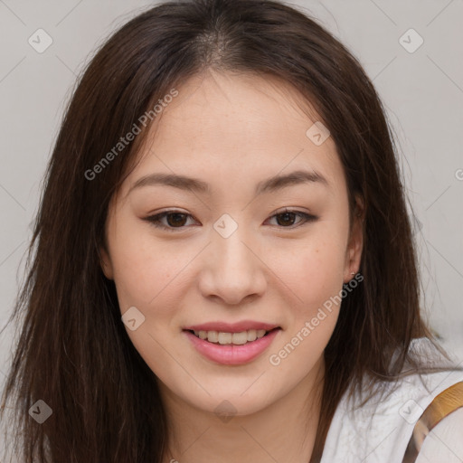
[[[168,419],[163,463],[307,463],[314,449],[324,362],[286,395],[248,415],[219,418],[194,408],[160,383]]]

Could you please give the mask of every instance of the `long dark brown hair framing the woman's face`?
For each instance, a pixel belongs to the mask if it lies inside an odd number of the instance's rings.
[[[5,384],[22,461],[160,462],[166,419],[156,378],[120,320],[114,282],[100,268],[109,200],[147,128],[86,175],[146,110],[202,71],[253,72],[293,85],[330,130],[351,204],[364,200],[364,281],[343,300],[326,346],[316,447],[319,460],[349,384],[392,381],[414,360],[411,340],[431,337],[400,169],[382,103],[361,65],[307,15],[277,1],[175,1],[114,33],[80,78],[46,172],[28,274],[14,317],[24,317]],[[28,410],[43,400],[42,425]]]

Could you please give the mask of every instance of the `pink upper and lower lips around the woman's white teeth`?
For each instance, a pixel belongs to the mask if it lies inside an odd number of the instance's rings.
[[[209,360],[218,364],[237,365],[247,364],[262,354],[275,339],[275,336],[279,334],[280,328],[273,329],[275,327],[276,326],[261,323],[251,324],[250,322],[241,322],[234,325],[209,323],[185,328],[184,334],[188,337],[196,350]],[[267,335],[255,341],[248,342],[245,345],[220,345],[200,339],[190,331],[187,331],[190,329],[194,331],[222,331],[224,333],[240,333],[241,331],[250,329],[265,329],[271,331],[269,331]]]

